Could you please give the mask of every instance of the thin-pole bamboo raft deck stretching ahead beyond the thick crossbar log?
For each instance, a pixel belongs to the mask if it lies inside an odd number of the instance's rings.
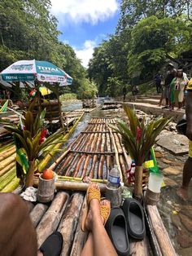
[[[115,125],[116,122],[113,118],[92,118],[55,166],[55,172],[77,179],[89,176],[106,180],[111,167],[117,164],[124,180],[131,159],[120,142],[120,135],[113,132],[109,124]]]

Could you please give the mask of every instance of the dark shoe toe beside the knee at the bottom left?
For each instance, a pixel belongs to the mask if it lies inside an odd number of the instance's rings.
[[[53,232],[41,245],[43,256],[59,256],[63,247],[63,236],[60,232]]]

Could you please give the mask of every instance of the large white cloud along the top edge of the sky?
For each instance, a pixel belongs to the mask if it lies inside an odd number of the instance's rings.
[[[91,22],[107,20],[118,9],[118,0],[51,0],[52,12],[60,20]]]

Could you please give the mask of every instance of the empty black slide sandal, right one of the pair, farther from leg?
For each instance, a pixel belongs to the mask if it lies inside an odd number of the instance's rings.
[[[133,198],[126,198],[123,204],[129,236],[142,240],[146,235],[144,211],[142,205]]]

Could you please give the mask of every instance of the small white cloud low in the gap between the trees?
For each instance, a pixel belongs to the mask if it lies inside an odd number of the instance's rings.
[[[76,47],[73,47],[76,52],[76,56],[81,60],[81,64],[87,68],[89,64],[89,60],[91,59],[94,53],[94,47],[97,45],[95,41],[86,40],[84,42],[83,47],[80,50],[77,50]]]

